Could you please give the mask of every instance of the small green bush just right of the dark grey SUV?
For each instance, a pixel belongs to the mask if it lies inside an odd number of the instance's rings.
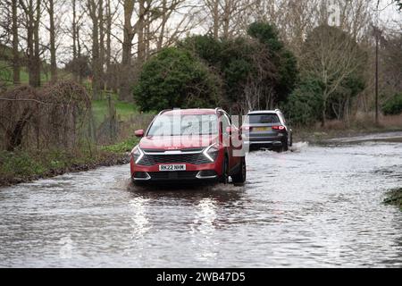
[[[304,80],[288,98],[284,111],[294,125],[311,125],[322,118],[322,83]]]

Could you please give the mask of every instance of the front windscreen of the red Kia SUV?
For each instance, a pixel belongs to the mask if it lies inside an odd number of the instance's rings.
[[[164,114],[155,119],[147,136],[216,135],[216,114],[178,115]]]

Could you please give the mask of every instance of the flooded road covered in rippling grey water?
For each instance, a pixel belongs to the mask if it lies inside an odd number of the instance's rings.
[[[402,267],[402,143],[247,156],[245,186],[136,189],[129,165],[0,189],[0,266]]]

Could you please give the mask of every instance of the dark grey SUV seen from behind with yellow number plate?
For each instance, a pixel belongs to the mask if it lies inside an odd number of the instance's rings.
[[[250,150],[265,147],[287,151],[292,146],[292,130],[279,109],[249,112],[242,131]]]

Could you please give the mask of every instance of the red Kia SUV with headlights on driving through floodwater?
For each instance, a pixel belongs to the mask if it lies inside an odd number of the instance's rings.
[[[217,109],[165,110],[155,116],[131,151],[134,183],[162,181],[246,181],[239,129]]]

